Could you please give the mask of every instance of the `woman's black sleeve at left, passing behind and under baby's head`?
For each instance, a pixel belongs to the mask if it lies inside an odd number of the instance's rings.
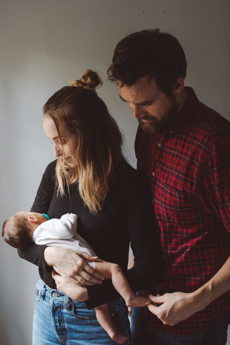
[[[34,200],[31,212],[46,213],[48,212],[50,205],[50,198],[53,189],[53,176],[55,170],[56,161],[50,163],[46,168],[40,186],[37,191],[36,198]],[[40,246],[33,243],[27,249],[18,249],[18,255],[38,267],[42,267],[46,272],[52,272],[53,267],[46,266],[44,260],[44,250],[47,246]]]

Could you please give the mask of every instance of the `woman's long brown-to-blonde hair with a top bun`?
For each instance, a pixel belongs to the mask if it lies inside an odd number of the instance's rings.
[[[80,196],[92,213],[102,209],[116,167],[122,157],[123,137],[105,103],[96,93],[102,84],[97,72],[86,70],[81,80],[72,82],[49,98],[44,117],[54,121],[62,145],[64,133],[77,139],[76,168],[58,157],[55,177],[58,193],[78,183]],[[93,91],[93,92],[92,92]]]

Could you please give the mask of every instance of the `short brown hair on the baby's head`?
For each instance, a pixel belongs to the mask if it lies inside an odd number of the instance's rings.
[[[4,221],[2,237],[10,246],[26,249],[33,243],[30,230],[30,225],[26,217],[14,214]]]

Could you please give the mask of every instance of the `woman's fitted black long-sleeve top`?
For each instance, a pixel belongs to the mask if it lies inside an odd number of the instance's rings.
[[[55,165],[56,161],[53,161],[46,168],[31,211],[46,213],[50,218],[60,218],[68,212],[77,214],[78,234],[101,260],[121,266],[134,292],[157,285],[162,276],[163,259],[153,227],[150,194],[139,173],[122,159],[117,167],[117,180],[111,183],[102,210],[92,214],[79,195],[78,183],[70,186],[70,194],[57,195]],[[135,265],[127,270],[129,244]],[[41,279],[56,289],[52,267],[46,266],[44,261],[45,248],[34,243],[28,249],[18,249],[18,253],[21,258],[39,266]],[[102,285],[88,286],[87,290],[88,308],[120,296],[111,280],[104,280]]]

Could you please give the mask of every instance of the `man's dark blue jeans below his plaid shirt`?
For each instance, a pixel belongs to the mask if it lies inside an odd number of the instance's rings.
[[[165,331],[150,331],[150,312],[142,315],[141,308],[132,309],[133,345],[225,345],[228,322],[219,321],[206,331],[191,335],[173,335]]]

